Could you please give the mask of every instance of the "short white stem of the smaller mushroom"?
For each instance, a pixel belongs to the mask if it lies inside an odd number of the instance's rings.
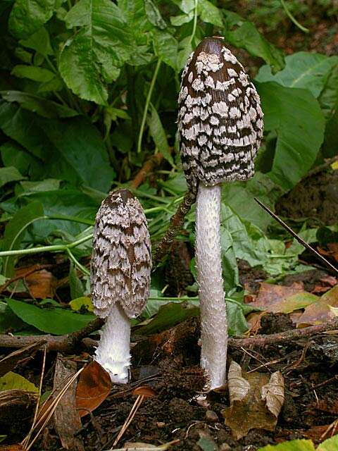
[[[94,360],[99,362],[115,383],[127,383],[130,367],[130,319],[118,302],[111,307],[101,329],[101,340]]]

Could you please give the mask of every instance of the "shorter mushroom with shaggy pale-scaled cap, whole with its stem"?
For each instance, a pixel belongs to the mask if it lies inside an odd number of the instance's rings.
[[[128,190],[108,194],[96,214],[91,285],[94,313],[106,318],[94,359],[115,383],[127,383],[130,319],[149,297],[151,244],[146,217]]]

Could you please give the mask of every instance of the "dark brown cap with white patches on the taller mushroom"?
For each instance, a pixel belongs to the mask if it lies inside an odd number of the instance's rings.
[[[182,73],[178,130],[181,159],[190,187],[253,176],[263,137],[256,88],[223,39],[207,37]]]

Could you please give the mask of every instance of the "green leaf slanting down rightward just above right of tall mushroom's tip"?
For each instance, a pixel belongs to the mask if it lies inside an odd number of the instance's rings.
[[[231,11],[223,11],[225,13],[224,37],[229,44],[246,49],[253,56],[260,56],[274,71],[284,67],[282,51],[270,44],[252,22],[244,20]]]

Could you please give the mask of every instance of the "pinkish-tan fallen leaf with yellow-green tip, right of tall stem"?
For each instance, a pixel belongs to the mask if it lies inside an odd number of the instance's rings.
[[[263,282],[256,299],[249,305],[272,313],[291,313],[316,301],[318,297],[304,291],[302,283],[295,282],[286,287]]]

